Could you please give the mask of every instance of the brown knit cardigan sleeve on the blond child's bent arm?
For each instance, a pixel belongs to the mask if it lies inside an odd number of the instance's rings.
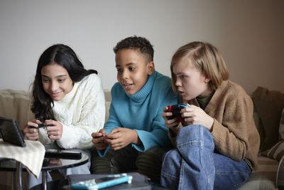
[[[222,123],[214,118],[212,135],[215,149],[231,159],[241,161],[249,149],[249,138],[257,135],[254,132],[253,103],[245,93],[235,93],[225,99]]]

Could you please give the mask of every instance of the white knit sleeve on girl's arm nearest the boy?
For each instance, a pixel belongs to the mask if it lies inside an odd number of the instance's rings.
[[[74,110],[78,112],[80,119],[72,122],[72,125],[62,123],[62,137],[57,140],[59,147],[88,149],[92,147],[92,132],[97,132],[104,126],[105,100],[102,80],[99,76],[93,75],[90,81],[80,90],[80,93],[84,93],[83,105],[80,105],[82,109]]]

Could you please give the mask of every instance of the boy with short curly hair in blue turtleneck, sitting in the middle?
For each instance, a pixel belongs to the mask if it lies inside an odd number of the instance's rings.
[[[138,169],[155,183],[165,147],[170,144],[163,107],[178,102],[171,80],[155,70],[153,46],[142,37],[117,43],[117,80],[111,89],[109,120],[92,133],[97,152],[92,173],[115,174]]]

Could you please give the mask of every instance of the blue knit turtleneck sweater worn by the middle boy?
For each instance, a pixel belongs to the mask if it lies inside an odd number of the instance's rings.
[[[155,71],[137,93],[127,95],[119,83],[111,88],[109,120],[104,125],[107,134],[116,127],[136,130],[142,144],[132,144],[139,152],[170,143],[168,128],[162,117],[163,107],[178,103],[170,78]],[[110,147],[98,150],[104,157]]]

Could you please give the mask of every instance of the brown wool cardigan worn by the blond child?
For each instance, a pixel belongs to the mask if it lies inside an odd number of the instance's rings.
[[[196,99],[187,103],[199,106]],[[260,137],[253,121],[253,102],[246,91],[236,83],[223,81],[204,112],[214,118],[215,149],[236,161],[245,159],[251,169],[256,169]],[[175,145],[175,137],[170,139]]]

